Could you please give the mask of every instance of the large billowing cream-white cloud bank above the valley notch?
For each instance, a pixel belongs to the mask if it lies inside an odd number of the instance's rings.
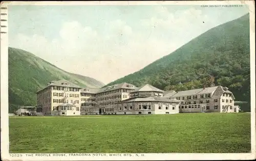
[[[194,8],[170,12],[157,6],[149,14],[152,16],[139,21],[136,29],[132,28],[135,24],[129,25],[123,19],[111,20],[100,30],[67,21],[53,40],[44,35],[20,33],[10,40],[10,46],[28,50],[66,71],[110,83],[142,69],[207,30],[199,24],[205,15]]]

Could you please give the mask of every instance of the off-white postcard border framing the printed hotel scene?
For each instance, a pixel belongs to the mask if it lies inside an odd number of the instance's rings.
[[[138,153],[116,154],[109,153],[84,153],[87,156],[70,156],[74,153],[66,153],[68,156],[35,156],[30,153],[9,154],[9,120],[8,120],[8,25],[7,34],[1,33],[1,157],[2,160],[240,160],[254,159],[255,144],[255,4],[253,1],[126,1],[126,2],[1,2],[2,8],[9,5],[248,5],[250,11],[250,73],[251,73],[251,151],[252,153]],[[7,13],[8,10],[6,10]],[[2,16],[1,19],[8,19]],[[2,22],[1,22],[2,23]],[[22,155],[19,157],[18,155]],[[30,156],[29,156],[30,155]],[[42,155],[42,154],[41,154]],[[45,154],[47,155],[47,154]],[[82,154],[80,154],[82,155]],[[89,156],[91,155],[91,156]]]

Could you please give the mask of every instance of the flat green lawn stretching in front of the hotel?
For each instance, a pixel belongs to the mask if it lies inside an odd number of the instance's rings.
[[[10,153],[245,153],[250,114],[9,117]]]

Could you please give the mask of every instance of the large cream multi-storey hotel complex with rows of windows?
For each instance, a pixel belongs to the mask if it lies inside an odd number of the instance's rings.
[[[100,89],[81,88],[64,79],[36,92],[43,115],[137,115],[238,112],[226,87],[162,91],[151,85],[121,83]]]

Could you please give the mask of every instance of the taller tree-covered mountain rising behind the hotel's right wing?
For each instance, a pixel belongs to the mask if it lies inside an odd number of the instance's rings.
[[[249,14],[208,30],[109,85],[121,82],[179,91],[222,85],[234,93],[236,100],[250,101]]]

